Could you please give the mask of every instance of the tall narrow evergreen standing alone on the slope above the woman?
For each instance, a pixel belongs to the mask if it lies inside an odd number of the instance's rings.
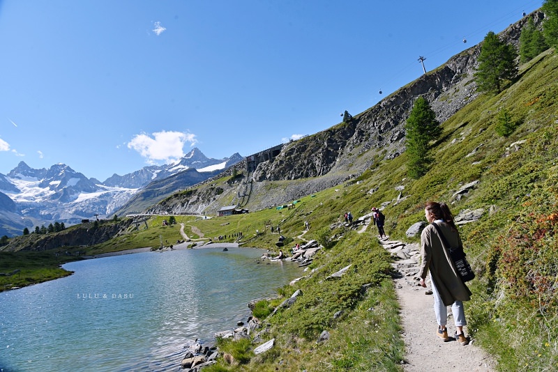
[[[432,159],[428,153],[430,141],[439,138],[442,128],[436,114],[423,97],[413,104],[413,109],[405,125],[407,138],[407,173],[412,178],[420,178],[428,171]]]

